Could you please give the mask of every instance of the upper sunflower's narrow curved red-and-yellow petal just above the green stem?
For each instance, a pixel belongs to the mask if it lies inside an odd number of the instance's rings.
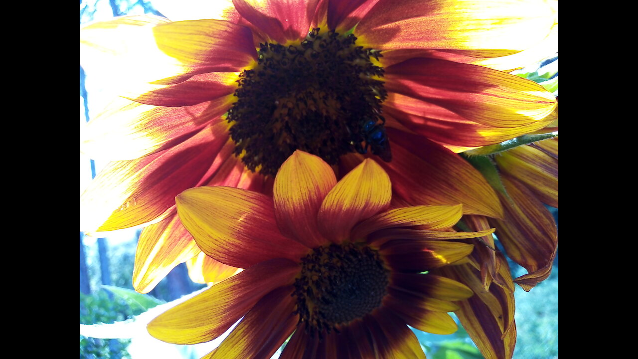
[[[417,98],[390,93],[383,102],[383,116],[419,135],[443,144],[475,147],[507,141],[528,134],[551,123],[546,118],[517,127],[494,127],[470,121],[440,105]]]

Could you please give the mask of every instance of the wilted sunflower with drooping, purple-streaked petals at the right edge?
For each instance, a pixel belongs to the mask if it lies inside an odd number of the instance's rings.
[[[558,127],[542,132],[558,134]],[[486,155],[503,146],[471,152]],[[501,185],[496,187],[500,188],[498,195],[505,215],[502,219],[464,215],[462,228],[480,231],[494,227],[507,256],[528,273],[512,279],[507,259],[494,249],[492,236],[461,240],[475,245],[466,258],[468,263],[433,273],[457,280],[479,294],[457,302],[459,309],[455,314],[487,359],[501,359],[512,358],[516,345],[515,284],[530,291],[547,279],[558,250],[558,228],[545,207],[558,208],[558,137],[516,146],[489,157],[499,173]]]

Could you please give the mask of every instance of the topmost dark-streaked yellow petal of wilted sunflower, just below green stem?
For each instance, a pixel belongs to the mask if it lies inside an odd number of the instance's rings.
[[[518,146],[499,153],[494,160],[501,171],[527,185],[540,201],[558,208],[558,159],[532,146]]]

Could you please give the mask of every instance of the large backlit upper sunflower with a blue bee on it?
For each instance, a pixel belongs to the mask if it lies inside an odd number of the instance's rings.
[[[81,62],[108,63],[124,90],[84,131],[82,151],[111,162],[82,195],[80,227],[145,226],[133,279],[145,293],[198,253],[175,195],[271,194],[297,149],[341,173],[379,158],[397,200],[502,217],[454,152],[547,125],[551,93],[498,70],[544,56],[555,20],[531,0],[235,0],[219,19],[87,26]]]

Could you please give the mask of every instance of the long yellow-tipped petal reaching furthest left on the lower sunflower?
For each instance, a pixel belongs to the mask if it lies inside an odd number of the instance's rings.
[[[147,330],[153,337],[174,344],[215,339],[265,294],[291,285],[297,273],[299,266],[283,258],[256,264],[160,314]]]

